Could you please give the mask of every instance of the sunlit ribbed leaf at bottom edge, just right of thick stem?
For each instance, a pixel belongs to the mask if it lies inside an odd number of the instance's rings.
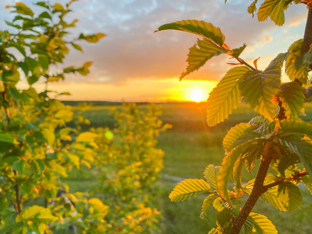
[[[246,230],[247,225],[249,224],[256,231],[256,232],[253,231],[251,233],[255,233],[255,234],[278,234],[275,226],[264,215],[260,215],[260,214],[251,212],[246,221],[247,222],[244,224],[245,230]]]

